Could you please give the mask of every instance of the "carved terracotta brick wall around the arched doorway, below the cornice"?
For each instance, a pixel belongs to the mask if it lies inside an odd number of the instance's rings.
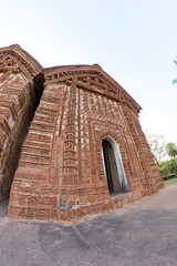
[[[96,89],[45,82],[11,188],[10,217],[75,221],[158,192],[162,178],[137,114]],[[119,145],[129,191],[114,198],[102,157],[106,135]]]

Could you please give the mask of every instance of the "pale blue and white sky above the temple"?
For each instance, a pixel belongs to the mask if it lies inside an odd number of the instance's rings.
[[[177,143],[176,0],[0,0],[0,47],[43,66],[98,63],[143,108],[143,129]]]

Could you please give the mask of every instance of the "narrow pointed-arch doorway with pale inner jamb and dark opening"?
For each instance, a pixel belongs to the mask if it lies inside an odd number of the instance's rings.
[[[119,149],[111,136],[102,141],[102,155],[110,193],[128,192]]]

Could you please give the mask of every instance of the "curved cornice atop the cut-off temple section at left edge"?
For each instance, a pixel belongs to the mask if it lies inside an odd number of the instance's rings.
[[[29,80],[33,80],[33,78],[42,71],[41,64],[18,44],[0,48],[0,57],[2,57],[2,59],[4,57],[6,60],[9,57],[13,60],[13,66],[15,65],[15,68],[6,66],[6,70],[18,71],[18,69],[21,69]]]

